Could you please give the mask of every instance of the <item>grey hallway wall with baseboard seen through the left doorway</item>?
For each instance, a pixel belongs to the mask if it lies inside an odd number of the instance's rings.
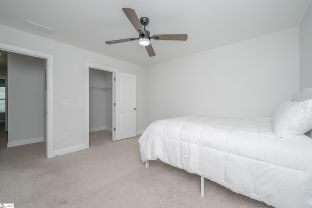
[[[43,59],[8,53],[8,147],[43,141]]]

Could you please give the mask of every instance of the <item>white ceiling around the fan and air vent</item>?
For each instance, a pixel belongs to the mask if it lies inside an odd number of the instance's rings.
[[[155,64],[300,25],[312,0],[1,0],[0,24],[140,66]],[[155,41],[149,57],[123,11],[148,17],[153,34],[188,34],[187,41]],[[54,29],[26,27],[29,20]]]

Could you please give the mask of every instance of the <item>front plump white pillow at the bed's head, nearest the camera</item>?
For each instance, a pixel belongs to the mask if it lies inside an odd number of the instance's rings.
[[[273,129],[277,137],[297,136],[312,129],[312,99],[285,105],[286,103],[278,110],[273,121]]]

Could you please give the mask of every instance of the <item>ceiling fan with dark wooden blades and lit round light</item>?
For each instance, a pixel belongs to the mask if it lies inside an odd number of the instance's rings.
[[[112,40],[106,41],[106,44],[115,44],[121,42],[129,42],[133,40],[138,40],[138,43],[142,46],[145,46],[146,51],[150,57],[154,57],[156,54],[154,49],[151,45],[151,39],[154,40],[187,40],[187,34],[166,34],[166,35],[154,35],[150,36],[150,32],[145,30],[145,26],[148,25],[149,19],[148,18],[137,18],[137,14],[134,9],[131,8],[123,8],[122,11],[125,13],[127,18],[130,20],[132,25],[137,30],[139,36],[138,38],[126,38],[120,40]],[[143,25],[143,28],[142,28]]]

